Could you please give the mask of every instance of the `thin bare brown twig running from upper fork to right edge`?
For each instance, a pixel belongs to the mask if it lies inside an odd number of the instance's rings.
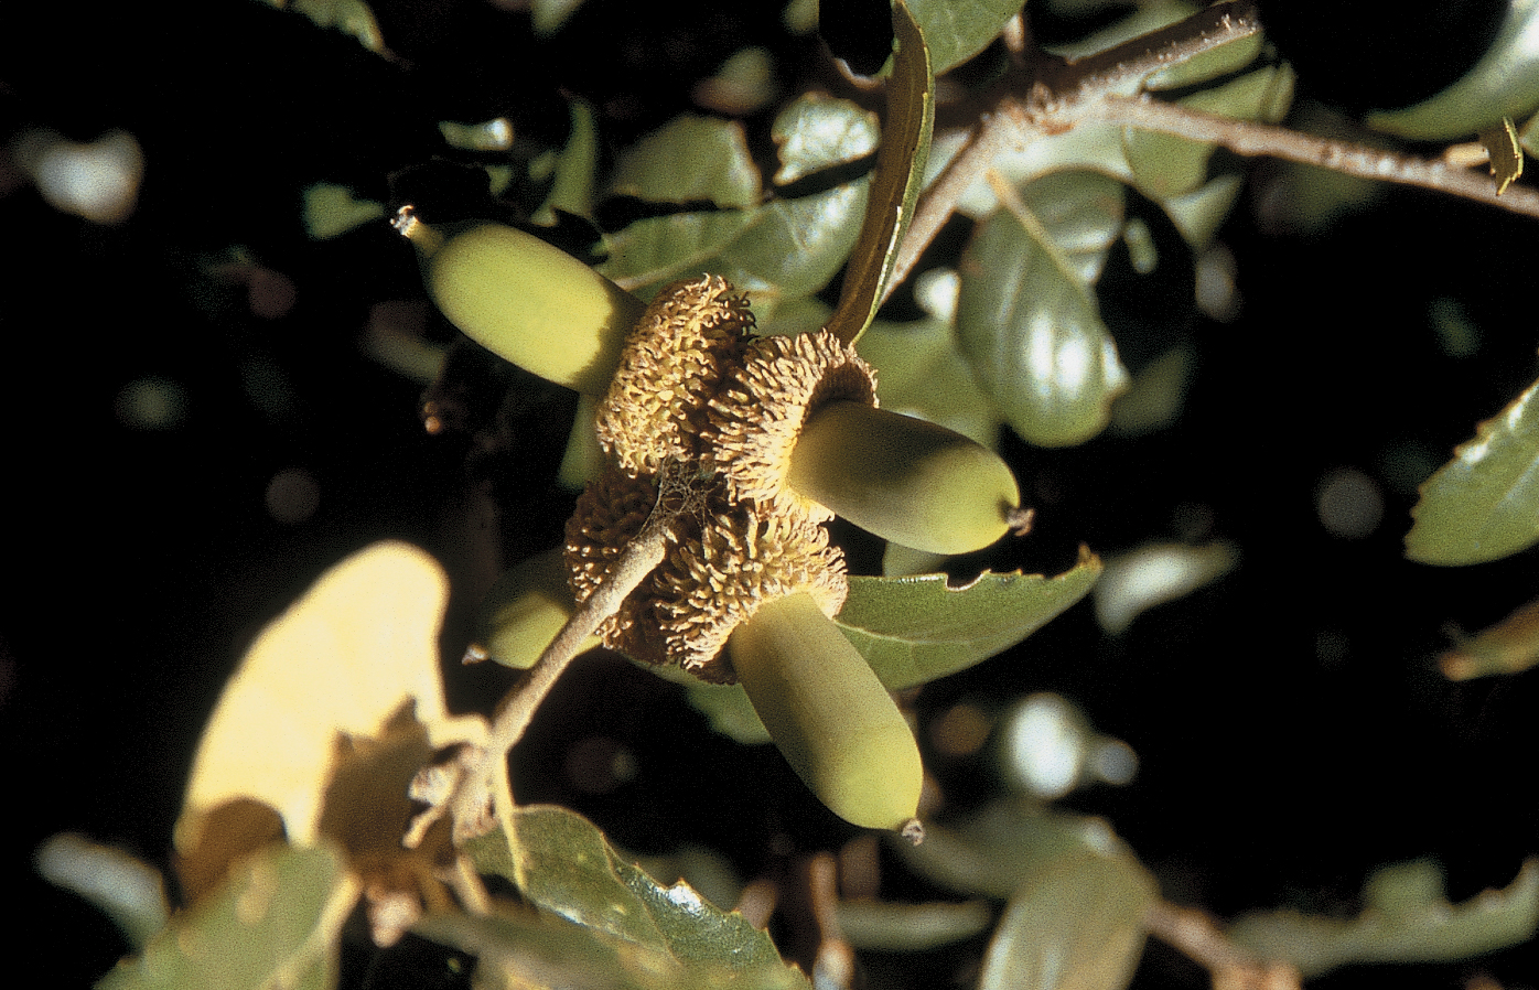
[[[1317,165],[1347,176],[1434,189],[1510,212],[1539,217],[1539,191],[1528,186],[1510,186],[1505,194],[1497,196],[1497,185],[1490,176],[1453,168],[1436,159],[1417,159],[1397,151],[1300,134],[1288,128],[1234,120],[1179,103],[1165,103],[1148,95],[1108,95],[1096,103],[1094,119],[1103,123],[1120,123],[1142,131],[1213,142],[1236,154],[1268,156]]]

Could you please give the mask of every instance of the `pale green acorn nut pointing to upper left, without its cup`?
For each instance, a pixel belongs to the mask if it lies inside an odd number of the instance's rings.
[[[429,226],[402,206],[434,305],[460,331],[534,374],[603,394],[645,303],[532,234],[492,222]]]

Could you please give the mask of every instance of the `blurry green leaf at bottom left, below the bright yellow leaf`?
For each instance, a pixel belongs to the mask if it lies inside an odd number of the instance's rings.
[[[328,919],[346,875],[326,848],[280,847],[231,870],[215,893],[163,928],[143,955],[120,962],[100,990],[260,990],[331,985],[334,939]],[[340,905],[346,910],[346,904]],[[332,921],[328,931],[326,922]]]

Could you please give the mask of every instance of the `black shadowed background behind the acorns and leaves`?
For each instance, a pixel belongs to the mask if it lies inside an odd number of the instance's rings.
[[[1447,18],[1424,17],[1413,32],[1411,15],[1387,31],[1377,6],[1344,5],[1351,14],[1336,20],[1313,6],[1268,5],[1267,17],[1300,66],[1300,97],[1348,109],[1434,91],[1439,72],[1456,75],[1481,49],[1494,9],[1439,5]],[[511,562],[559,539],[569,496],[551,490],[549,465],[566,399],[531,393],[514,419],[516,457],[468,459],[466,434],[428,436],[420,385],[357,345],[371,305],[420,299],[411,251],[383,223],[309,242],[302,188],[325,179],[386,199],[391,172],[445,154],[440,119],[508,114],[531,142],[556,143],[562,89],[589,97],[620,146],[689,109],[693,82],[746,43],[774,51],[791,92],[823,65],[820,43],[786,38],[768,3],[589,0],[539,45],[520,15],[479,3],[376,9],[396,63],[254,2],[9,5],[0,20],[8,139],[28,126],[78,140],[123,128],[146,159],[139,208],[115,226],[52,211],[0,160],[3,560],[15,582],[0,596],[15,834],[5,890],[23,916],[8,925],[8,968],[40,964],[75,985],[123,952],[94,910],[35,881],[29,851],[72,830],[163,864],[225,676],[320,570],[377,537],[420,542],[468,576],[452,640],[488,545]],[[850,20],[859,34],[865,22]],[[1079,28],[1042,15],[1039,32]],[[1350,37],[1365,38],[1362,59],[1331,54]],[[919,710],[1071,696],[1133,744],[1142,770],[1130,787],[1070,804],[1107,814],[1167,896],[1220,916],[1276,904],[1353,911],[1370,868],[1422,855],[1447,865],[1450,895],[1464,899],[1505,885],[1536,850],[1539,681],[1448,684],[1434,656],[1445,624],[1479,630],[1533,597],[1539,557],[1459,570],[1405,560],[1416,480],[1405,465],[1441,463],[1534,379],[1534,225],[1390,189],[1325,232],[1290,232],[1264,206],[1280,180],[1259,168],[1220,234],[1237,260],[1236,322],[1196,313],[1180,262],[1150,282],[1113,259],[1102,303],[1130,365],[1173,339],[1196,348],[1185,414],[1133,440],[1062,451],[1008,442],[1039,533],[994,560],[1056,573],[1080,542],[1114,554],[1217,536],[1237,543],[1239,568],[1116,640],[1080,605],[1010,657],[926,688]],[[257,316],[240,279],[211,274],[232,245],[292,285],[292,308]],[[1437,299],[1479,328],[1474,354],[1442,351],[1428,316]],[[119,416],[122,390],[146,376],[183,390],[175,428]],[[1384,494],[1384,522],[1367,539],[1333,537],[1316,517],[1316,487],[1340,467]],[[265,508],[286,468],[319,487],[302,523]],[[468,536],[488,493],[502,500],[492,540]],[[452,702],[488,705],[499,674],[457,670]],[[596,725],[639,765],[603,794],[563,771]],[[699,841],[753,875],[773,836],[811,850],[853,834],[773,750],[713,736],[673,685],[616,662],[573,671],[520,761],[522,796],[569,804],[640,851]],[[960,807],[993,787],[977,768],[934,768]],[[893,884],[923,893],[913,878]],[[1476,972],[1533,985],[1533,952],[1391,970],[1400,985],[1427,987]],[[1320,985],[1376,978],[1347,970]],[[1139,985],[1203,981],[1160,947],[1139,975]]]

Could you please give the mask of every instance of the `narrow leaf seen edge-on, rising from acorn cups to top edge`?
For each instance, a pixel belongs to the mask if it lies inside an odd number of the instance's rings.
[[[886,83],[886,120],[882,148],[871,174],[871,199],[860,237],[853,245],[843,291],[828,331],[853,342],[865,333],[882,305],[930,160],[936,126],[936,77],[925,35],[903,0],[893,3],[897,55]]]

